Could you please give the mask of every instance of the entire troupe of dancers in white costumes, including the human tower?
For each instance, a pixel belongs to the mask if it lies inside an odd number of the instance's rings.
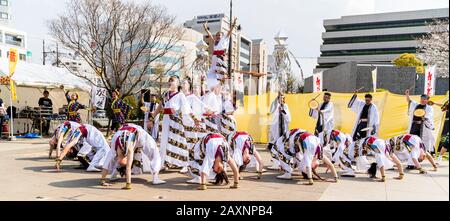
[[[231,30],[235,26],[236,21],[231,24]],[[205,29],[209,33],[206,25]],[[257,179],[261,179],[265,171],[263,160],[251,135],[237,131],[232,93],[224,86],[229,79],[225,58],[231,34],[232,31],[226,35],[218,32],[215,37],[209,34],[214,39],[214,51],[207,74],[208,88],[203,96],[200,85],[193,85],[189,79],[170,77],[169,89],[159,105],[150,108],[149,104],[144,104],[145,123],[141,127],[125,123],[125,114],[131,107],[120,99],[119,91],[115,91],[111,107],[114,135],[110,142],[95,127],[81,124],[75,114],[72,121],[61,124],[50,141],[49,157],[56,150],[56,169],[61,169],[66,156],[74,156],[88,171],[101,171],[103,186],[111,186],[119,175],[125,177],[123,189],[127,190],[131,189],[131,176],[142,173],[152,174],[152,184],[164,184],[158,175],[168,169],[189,174],[192,179],[188,183],[198,184],[199,190],[206,190],[210,182],[228,185],[229,170],[233,173],[230,186],[233,189],[239,188],[240,172],[247,167],[255,167]],[[298,169],[307,179],[305,184],[313,185],[314,178],[337,182],[337,168],[341,168],[343,176],[355,176],[355,171],[366,170],[371,177],[376,177],[379,170],[381,180],[386,181],[385,171],[395,164],[399,171],[396,178],[403,179],[401,160],[425,173],[421,166],[425,158],[437,169],[429,154],[434,146],[434,127],[433,109],[427,106],[427,96],[422,96],[418,104],[410,100],[407,92],[411,132],[387,141],[377,137],[380,118],[372,95],[366,95],[363,101],[355,93],[350,100],[348,107],[357,114],[352,134],[334,129],[331,97],[330,93],[325,93],[323,103],[313,100],[317,103],[310,111],[310,116],[317,119],[313,133],[289,130],[291,114],[282,93],[273,102],[269,144],[273,166],[270,169],[283,172],[278,178],[292,179],[292,173]],[[77,106],[76,98],[72,98],[72,106]],[[425,114],[415,116],[417,109],[423,109]],[[375,156],[373,164],[367,159],[369,155]],[[317,173],[321,164],[331,171],[332,180],[323,179]]]

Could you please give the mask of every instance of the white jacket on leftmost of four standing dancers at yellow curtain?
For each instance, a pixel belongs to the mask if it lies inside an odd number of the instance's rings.
[[[278,102],[278,99],[272,102],[270,106],[270,114],[272,114],[272,124],[270,125],[269,132],[269,142],[275,144],[278,138],[280,138],[280,114],[279,111],[281,104]],[[287,104],[283,105],[283,109],[286,114],[283,114],[283,130],[281,134],[285,134],[289,131],[289,124],[291,123],[291,112],[289,111],[289,107]]]

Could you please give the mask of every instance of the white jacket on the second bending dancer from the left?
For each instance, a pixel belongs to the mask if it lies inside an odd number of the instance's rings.
[[[159,155],[158,146],[156,145],[155,140],[138,125],[127,124],[126,126],[135,128],[137,132],[133,151],[136,150],[136,148],[142,148],[142,153],[134,154],[134,159],[141,161],[143,168],[133,167],[132,174],[138,175],[146,172],[152,174],[159,173],[161,170],[161,156]],[[119,130],[111,140],[111,151],[108,153],[103,165],[103,169],[108,170],[109,173],[112,173],[119,166],[117,161],[116,140],[124,132],[125,131]]]

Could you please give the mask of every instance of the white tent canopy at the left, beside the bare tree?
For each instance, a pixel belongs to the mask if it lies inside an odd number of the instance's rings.
[[[0,58],[0,75],[9,75],[9,61]],[[19,61],[13,80],[17,86],[36,88],[59,88],[64,85],[67,89],[91,91],[89,82],[83,80],[65,68],[44,66]]]

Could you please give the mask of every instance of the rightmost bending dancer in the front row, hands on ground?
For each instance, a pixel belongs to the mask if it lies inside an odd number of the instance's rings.
[[[420,164],[425,158],[433,165],[434,171],[437,171],[437,165],[433,156],[427,152],[419,136],[411,134],[401,135],[389,139],[386,141],[386,144],[389,146],[391,153],[401,160],[408,161],[408,164],[414,164],[421,174],[427,173]]]

